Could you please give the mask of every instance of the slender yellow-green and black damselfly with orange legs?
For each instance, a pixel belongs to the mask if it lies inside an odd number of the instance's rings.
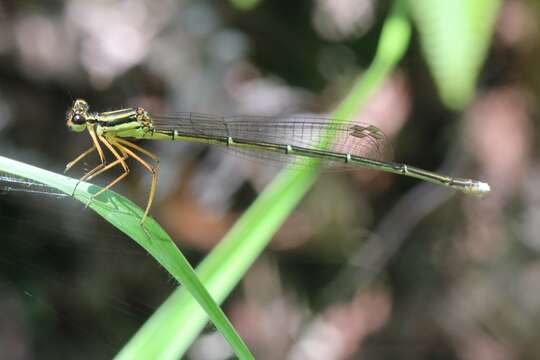
[[[150,194],[144,222],[154,199],[158,179],[159,159],[150,151],[126,139],[178,140],[216,144],[237,153],[293,164],[294,167],[359,166],[414,177],[452,187],[466,194],[482,196],[489,192],[487,183],[439,175],[413,166],[385,161],[386,137],[375,126],[344,123],[316,116],[224,117],[199,113],[154,115],[143,108],[126,108],[108,112],[90,112],[88,103],[75,100],[67,112],[67,126],[77,132],[87,130],[92,146],[67,164],[66,171],[90,153],[97,151],[100,164],[88,171],[81,180],[121,166],[123,172],[94,197],[110,189],[129,173],[128,158],[138,161],[152,175]],[[115,160],[107,163],[104,148]],[[150,164],[142,157],[154,160]]]

